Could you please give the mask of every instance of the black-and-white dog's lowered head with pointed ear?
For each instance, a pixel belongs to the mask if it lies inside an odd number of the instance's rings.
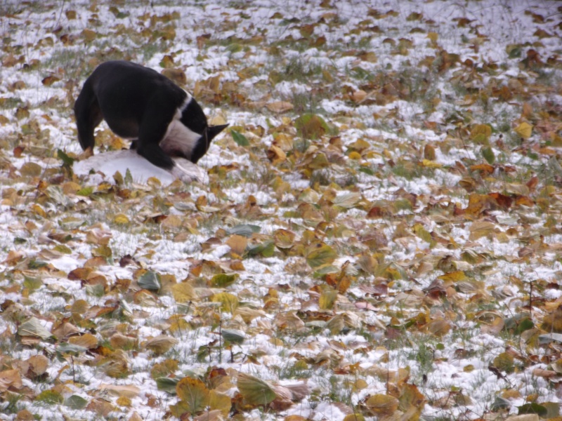
[[[178,111],[181,112],[179,121],[189,133],[171,135],[172,139],[165,142],[166,145],[161,144],[162,149],[171,156],[183,156],[192,163],[197,163],[207,153],[214,137],[228,127],[228,124],[209,126],[203,109],[191,95],[188,95],[183,107]]]

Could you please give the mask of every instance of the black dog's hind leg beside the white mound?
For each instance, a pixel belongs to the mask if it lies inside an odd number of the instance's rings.
[[[74,117],[76,118],[78,140],[82,149],[93,149],[96,142],[93,137],[93,129],[101,123],[103,116],[89,80],[84,82],[84,87],[74,103]]]

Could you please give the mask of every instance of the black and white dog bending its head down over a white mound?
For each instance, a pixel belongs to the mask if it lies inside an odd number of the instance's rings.
[[[74,104],[78,140],[93,149],[93,129],[105,120],[131,149],[182,180],[185,171],[172,158],[197,163],[211,140],[228,126],[210,126],[195,99],[166,76],[132,62],[99,65]]]

